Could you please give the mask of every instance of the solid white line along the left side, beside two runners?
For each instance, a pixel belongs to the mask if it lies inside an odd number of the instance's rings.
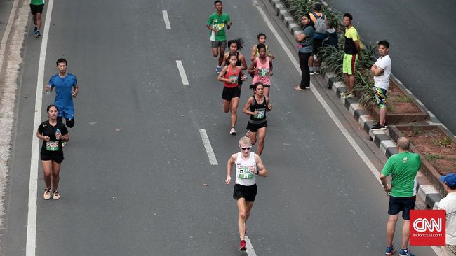
[[[41,105],[43,104],[44,64],[46,64],[46,50],[48,48],[49,24],[53,9],[53,0],[48,0],[46,9],[46,21],[41,38],[41,51],[39,52],[38,78],[36,79],[35,115],[32,131],[32,159],[30,159],[30,182],[29,182],[29,212],[27,218],[27,256],[35,256],[36,249],[36,192],[38,186],[38,150],[39,138],[35,133],[41,123]]]

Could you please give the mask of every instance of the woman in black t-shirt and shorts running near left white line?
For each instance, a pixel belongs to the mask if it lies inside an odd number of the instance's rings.
[[[57,120],[58,108],[55,105],[49,105],[47,112],[49,119],[41,122],[36,131],[36,136],[43,140],[40,157],[44,183],[46,183],[43,198],[46,200],[51,199],[51,181],[53,199],[60,199],[57,189],[60,180],[60,164],[63,161],[62,141],[69,141],[67,127]]]

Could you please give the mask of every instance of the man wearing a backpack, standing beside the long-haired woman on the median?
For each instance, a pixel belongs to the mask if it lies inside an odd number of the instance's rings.
[[[310,74],[313,75],[314,71],[318,75],[320,73],[321,55],[320,50],[323,47],[323,41],[326,36],[326,17],[321,13],[321,3],[314,3],[314,12],[309,13],[310,19],[314,22],[315,36],[314,36],[314,52],[309,58]],[[316,69],[314,69],[314,55],[316,55]]]

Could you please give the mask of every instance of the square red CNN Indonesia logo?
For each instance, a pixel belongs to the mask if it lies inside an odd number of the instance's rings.
[[[445,246],[445,210],[410,210],[410,246]]]

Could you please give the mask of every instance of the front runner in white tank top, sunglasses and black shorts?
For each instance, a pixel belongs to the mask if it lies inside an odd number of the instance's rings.
[[[246,220],[250,215],[253,207],[253,201],[257,195],[257,185],[255,176],[267,176],[267,170],[264,168],[261,158],[254,152],[250,152],[252,142],[248,137],[242,137],[239,140],[241,152],[234,153],[227,163],[227,184],[231,183],[231,173],[233,164],[236,164],[236,184],[234,185],[233,198],[236,199],[239,211],[238,229],[241,246],[239,250],[246,250]]]

